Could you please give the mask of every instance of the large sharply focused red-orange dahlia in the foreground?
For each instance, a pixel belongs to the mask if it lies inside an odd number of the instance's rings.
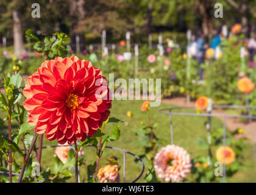
[[[27,79],[23,94],[29,124],[60,144],[93,136],[112,106],[101,70],[76,56],[43,62]]]

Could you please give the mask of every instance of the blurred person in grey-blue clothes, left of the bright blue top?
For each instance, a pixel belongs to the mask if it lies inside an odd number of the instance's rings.
[[[204,68],[201,67],[202,63],[204,63],[204,54],[205,54],[205,49],[207,48],[207,45],[204,44],[204,34],[199,31],[197,33],[197,40],[196,40],[196,46],[197,46],[197,51],[196,51],[196,58],[198,61],[199,65],[199,82],[202,82],[202,75],[204,73]]]

